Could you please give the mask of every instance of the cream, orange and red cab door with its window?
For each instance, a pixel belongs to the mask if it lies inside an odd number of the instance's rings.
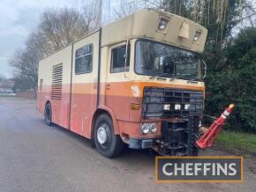
[[[106,106],[117,120],[129,120],[130,45],[122,42],[109,48],[109,69],[106,81]]]

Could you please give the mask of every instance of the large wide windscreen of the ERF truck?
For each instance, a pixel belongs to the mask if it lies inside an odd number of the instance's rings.
[[[165,78],[200,79],[200,54],[154,41],[136,42],[135,72]]]

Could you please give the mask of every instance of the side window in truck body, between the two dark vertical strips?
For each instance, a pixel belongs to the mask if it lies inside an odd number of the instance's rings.
[[[89,73],[93,70],[93,44],[76,50],[75,74]]]

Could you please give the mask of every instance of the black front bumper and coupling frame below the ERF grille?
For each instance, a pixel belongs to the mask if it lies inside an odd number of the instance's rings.
[[[154,149],[161,155],[188,156],[197,155],[196,140],[199,137],[199,116],[162,122],[160,138],[129,138],[129,148]]]

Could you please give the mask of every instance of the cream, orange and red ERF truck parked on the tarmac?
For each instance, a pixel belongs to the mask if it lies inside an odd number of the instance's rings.
[[[206,38],[189,19],[137,11],[42,59],[37,108],[108,158],[124,144],[197,155]]]

